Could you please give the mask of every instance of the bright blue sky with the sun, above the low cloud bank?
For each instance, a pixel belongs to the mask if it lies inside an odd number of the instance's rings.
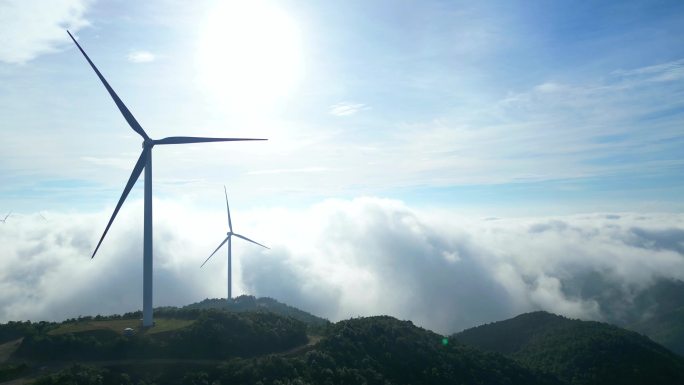
[[[111,205],[137,158],[64,27],[151,136],[270,139],[158,149],[155,195],[682,210],[681,2],[253,4],[3,4],[3,210]]]

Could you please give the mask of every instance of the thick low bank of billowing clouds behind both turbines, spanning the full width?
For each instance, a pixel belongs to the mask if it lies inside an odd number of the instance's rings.
[[[225,236],[212,212],[155,201],[155,305],[225,296]],[[0,321],[59,320],[141,307],[141,202],[119,214],[24,215],[0,226]],[[329,200],[299,210],[234,208],[234,291],[332,320],[391,314],[438,332],[543,309],[619,321],[639,293],[684,280],[684,215],[459,217],[402,202]]]

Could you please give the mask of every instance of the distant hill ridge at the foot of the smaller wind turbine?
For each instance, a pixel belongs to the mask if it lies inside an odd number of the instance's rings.
[[[311,313],[307,313],[303,310],[297,309],[296,307],[278,302],[273,298],[256,298],[251,295],[241,295],[237,298],[233,298],[231,301],[226,301],[225,298],[205,299],[201,302],[183,306],[182,309],[221,309],[235,313],[266,311],[284,317],[292,317],[296,320],[304,322],[309,326],[318,328],[325,327],[330,323],[325,318],[316,317]]]

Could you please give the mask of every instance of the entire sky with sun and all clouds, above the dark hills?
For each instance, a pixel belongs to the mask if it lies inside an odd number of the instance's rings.
[[[333,320],[684,278],[680,1],[2,0],[0,322],[141,306],[142,177],[89,259],[141,138],[66,29],[151,137],[268,139],[154,148],[155,305],[225,296],[224,185],[235,292]]]

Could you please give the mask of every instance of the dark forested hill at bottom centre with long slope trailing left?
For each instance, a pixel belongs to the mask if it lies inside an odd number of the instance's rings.
[[[448,343],[411,322],[387,316],[338,322],[318,344],[299,351],[233,357],[194,368],[186,364],[163,370],[145,367],[144,372],[132,365],[76,365],[35,384],[560,385],[500,354]]]

